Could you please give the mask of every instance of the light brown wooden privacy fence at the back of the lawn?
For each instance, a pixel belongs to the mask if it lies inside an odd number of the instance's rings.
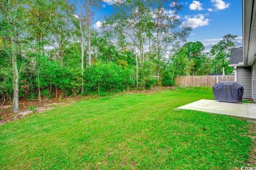
[[[234,82],[235,76],[179,76],[175,78],[175,84],[179,86],[213,86],[220,81]]]

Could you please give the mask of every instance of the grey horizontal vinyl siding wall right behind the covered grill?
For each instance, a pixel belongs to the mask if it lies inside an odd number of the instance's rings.
[[[237,83],[244,87],[245,99],[252,99],[252,67],[237,67]]]

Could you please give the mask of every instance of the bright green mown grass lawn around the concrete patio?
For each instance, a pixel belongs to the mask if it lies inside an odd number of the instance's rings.
[[[249,157],[250,124],[175,108],[206,87],[89,99],[0,126],[0,169],[230,169]]]

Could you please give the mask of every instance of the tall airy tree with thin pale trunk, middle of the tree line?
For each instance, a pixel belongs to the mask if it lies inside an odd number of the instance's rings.
[[[108,18],[107,25],[113,26],[114,37],[121,42],[124,48],[135,53],[136,82],[138,87],[138,70],[145,62],[145,47],[147,37],[151,38],[153,15],[149,1],[129,1],[115,5],[115,13]],[[122,49],[124,50],[124,49]]]

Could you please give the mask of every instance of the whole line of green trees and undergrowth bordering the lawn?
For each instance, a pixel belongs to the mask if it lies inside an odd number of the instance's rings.
[[[174,85],[180,75],[232,72],[226,35],[210,52],[186,42],[178,1],[113,1],[114,12],[92,25],[103,7],[96,0],[0,2],[0,100],[104,95]],[[171,4],[171,5],[170,5]]]

